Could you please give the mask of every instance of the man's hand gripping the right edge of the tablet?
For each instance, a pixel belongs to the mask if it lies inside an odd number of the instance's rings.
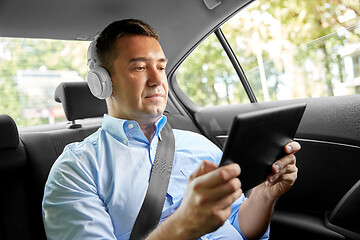
[[[272,165],[272,173],[267,181],[257,188],[260,188],[270,199],[276,199],[287,192],[297,178],[295,153],[300,150],[300,144],[291,142],[284,148],[287,155]],[[259,190],[260,190],[259,189]]]

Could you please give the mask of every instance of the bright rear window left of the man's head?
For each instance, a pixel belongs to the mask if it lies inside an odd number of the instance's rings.
[[[19,127],[65,120],[56,87],[84,81],[89,43],[46,39],[0,38],[0,113]]]

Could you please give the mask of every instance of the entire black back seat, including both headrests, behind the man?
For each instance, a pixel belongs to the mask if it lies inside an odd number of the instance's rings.
[[[0,136],[6,136],[0,138],[0,184],[6,193],[0,199],[1,239],[46,239],[41,203],[51,166],[67,144],[94,133],[107,113],[105,100],[95,98],[86,82],[60,84],[55,101],[62,103],[69,120],[66,128],[24,131],[19,136],[11,117],[0,115]],[[167,116],[173,128],[199,132],[190,119],[168,112]],[[81,120],[85,118],[90,121]]]

